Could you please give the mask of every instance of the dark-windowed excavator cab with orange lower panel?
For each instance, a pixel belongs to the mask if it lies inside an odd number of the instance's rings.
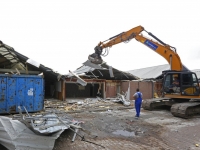
[[[194,72],[168,71],[164,73],[163,92],[170,98],[199,96],[199,81]]]

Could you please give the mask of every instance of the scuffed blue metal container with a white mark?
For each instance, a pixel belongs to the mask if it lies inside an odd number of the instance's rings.
[[[44,79],[36,75],[0,75],[0,113],[37,112],[44,107]]]

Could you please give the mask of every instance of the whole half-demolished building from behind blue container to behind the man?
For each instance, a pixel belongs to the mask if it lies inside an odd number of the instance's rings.
[[[126,93],[128,89],[128,97],[132,99],[137,87],[146,99],[154,97],[155,87],[161,87],[152,80],[141,81],[137,76],[119,71],[106,63],[95,65],[86,61],[77,70],[61,75],[18,53],[3,42],[0,42],[0,73],[9,76],[41,76],[44,78],[44,98],[59,100],[96,96],[112,98],[116,97],[117,93]]]

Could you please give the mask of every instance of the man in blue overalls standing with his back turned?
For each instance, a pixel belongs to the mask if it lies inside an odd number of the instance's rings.
[[[135,100],[135,118],[138,119],[140,117],[140,108],[142,104],[142,93],[140,92],[139,88],[136,89],[136,93],[133,95],[133,98]]]

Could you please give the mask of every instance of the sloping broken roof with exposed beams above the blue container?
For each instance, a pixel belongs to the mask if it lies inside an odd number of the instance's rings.
[[[43,72],[45,78],[51,78],[53,80],[57,80],[58,77],[61,76],[59,73],[55,73],[51,68],[45,67],[37,62],[31,62],[34,61],[31,61],[28,57],[0,41],[0,73],[10,73],[17,68],[21,74],[25,74],[27,71],[26,68],[28,68],[27,72],[29,74],[31,71],[32,74]]]

